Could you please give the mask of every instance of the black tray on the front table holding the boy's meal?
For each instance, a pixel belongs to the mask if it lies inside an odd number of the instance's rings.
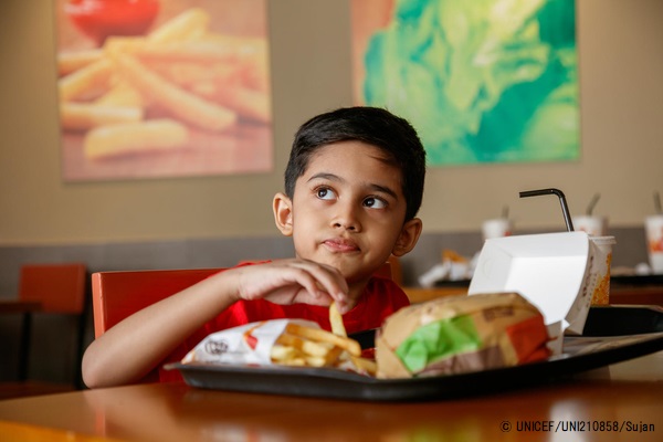
[[[621,324],[651,313],[660,327],[663,317],[663,309],[656,307],[601,307],[590,309],[588,325],[601,323],[607,312],[621,312]],[[628,336],[615,336],[619,326],[613,326],[611,336],[598,336],[594,330],[591,336],[566,337],[565,352],[544,361],[431,378],[376,379],[335,369],[282,366],[170,364],[166,368],[179,370],[188,385],[208,389],[366,401],[451,399],[555,381],[663,350],[663,330],[640,324],[642,327]],[[368,335],[370,332],[364,336],[365,345]]]

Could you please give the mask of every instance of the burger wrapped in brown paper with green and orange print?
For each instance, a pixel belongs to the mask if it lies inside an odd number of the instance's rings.
[[[402,308],[376,338],[379,378],[454,375],[546,359],[544,317],[517,293],[448,296]]]

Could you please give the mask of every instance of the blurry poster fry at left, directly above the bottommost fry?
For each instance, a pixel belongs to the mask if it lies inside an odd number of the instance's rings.
[[[62,127],[86,130],[93,127],[118,123],[136,123],[143,119],[140,107],[105,106],[87,103],[62,103],[60,120]]]

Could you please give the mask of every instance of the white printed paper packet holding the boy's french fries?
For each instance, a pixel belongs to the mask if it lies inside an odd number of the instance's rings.
[[[207,336],[185,356],[182,364],[273,365],[272,347],[290,323],[320,328],[317,323],[303,319],[272,319],[229,328]]]

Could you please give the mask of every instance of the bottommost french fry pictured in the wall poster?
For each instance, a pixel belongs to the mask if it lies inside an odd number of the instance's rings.
[[[126,123],[92,129],[85,137],[85,156],[91,159],[118,155],[171,150],[187,145],[189,131],[171,119]]]

